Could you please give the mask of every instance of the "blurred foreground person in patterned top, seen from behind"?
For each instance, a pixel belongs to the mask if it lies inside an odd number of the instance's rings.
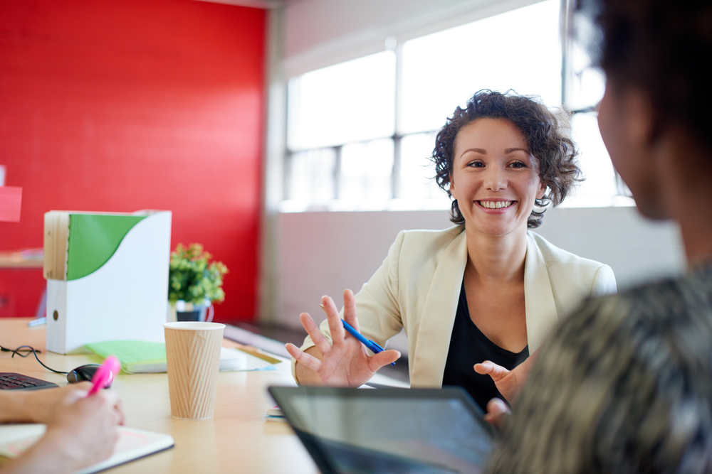
[[[580,0],[602,35],[601,135],[689,269],[585,303],[542,346],[491,473],[712,473],[712,4]]]

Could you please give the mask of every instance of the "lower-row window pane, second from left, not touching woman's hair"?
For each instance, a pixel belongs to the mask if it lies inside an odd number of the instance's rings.
[[[392,139],[344,145],[338,197],[343,200],[389,200],[393,197],[392,171]]]

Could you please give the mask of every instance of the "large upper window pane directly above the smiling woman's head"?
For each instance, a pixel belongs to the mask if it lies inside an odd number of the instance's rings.
[[[560,105],[559,9],[546,0],[404,43],[399,133],[439,129],[481,89]]]

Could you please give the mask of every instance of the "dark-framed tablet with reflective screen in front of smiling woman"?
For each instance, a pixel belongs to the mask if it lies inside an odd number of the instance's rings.
[[[323,474],[480,471],[493,430],[460,387],[269,387]]]

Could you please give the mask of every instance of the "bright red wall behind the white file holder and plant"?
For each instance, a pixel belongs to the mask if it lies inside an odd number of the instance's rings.
[[[0,250],[41,247],[52,209],[171,210],[173,247],[230,269],[216,320],[254,318],[265,21],[194,0],[2,0],[0,164],[23,202]],[[33,316],[43,284],[0,269],[0,314]]]

